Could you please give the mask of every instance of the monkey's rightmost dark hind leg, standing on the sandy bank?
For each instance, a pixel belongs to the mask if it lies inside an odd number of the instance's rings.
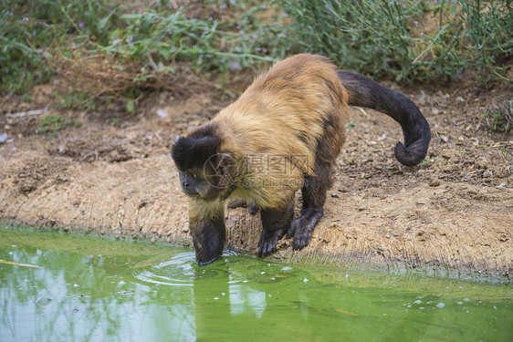
[[[322,207],[326,202],[326,192],[331,185],[331,164],[317,163],[316,175],[306,176],[301,189],[303,209],[301,216],[292,221],[287,237],[294,236],[292,249],[299,251],[309,245],[311,234],[324,215]]]

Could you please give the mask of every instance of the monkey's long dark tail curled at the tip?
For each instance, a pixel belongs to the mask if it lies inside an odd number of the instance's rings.
[[[424,160],[431,140],[429,124],[410,98],[386,88],[361,74],[339,70],[340,83],[349,93],[351,106],[366,107],[385,113],[401,124],[404,144],[397,142],[395,158],[414,166]]]

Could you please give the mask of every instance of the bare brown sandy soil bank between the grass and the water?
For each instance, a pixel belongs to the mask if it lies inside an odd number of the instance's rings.
[[[513,99],[511,88],[387,85],[414,99],[430,122],[429,160],[401,166],[393,158],[395,141],[402,139],[399,125],[381,113],[352,109],[354,125],[340,152],[326,216],[308,248],[292,252],[284,239],[276,255],[510,279],[513,134],[492,132],[481,113]],[[240,85],[233,88],[240,94]],[[153,93],[135,113],[108,101],[92,111],[55,109],[52,94],[67,90],[54,79],[34,88],[30,103],[0,98],[0,134],[7,134],[0,144],[0,218],[188,244],[187,201],[170,146],[233,98],[205,88],[181,99]],[[47,111],[16,115],[33,109]],[[46,115],[82,125],[50,137],[38,131]],[[227,247],[256,253],[259,218],[236,209],[226,211],[226,220]]]

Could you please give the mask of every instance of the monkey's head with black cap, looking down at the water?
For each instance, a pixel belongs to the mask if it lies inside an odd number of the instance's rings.
[[[227,171],[220,146],[221,138],[209,125],[175,140],[171,156],[185,194],[212,200],[224,192]]]

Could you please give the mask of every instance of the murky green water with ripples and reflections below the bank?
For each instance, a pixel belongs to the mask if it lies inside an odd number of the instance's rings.
[[[512,341],[513,285],[0,229],[0,341]],[[27,265],[6,264],[6,262]]]

